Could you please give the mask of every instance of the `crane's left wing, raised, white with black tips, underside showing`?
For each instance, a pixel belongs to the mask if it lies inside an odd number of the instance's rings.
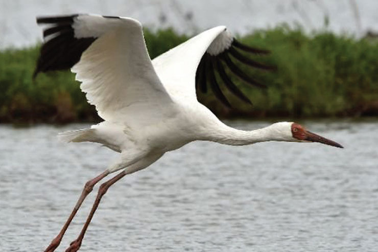
[[[143,31],[126,17],[71,15],[39,17],[44,43],[34,73],[70,67],[99,116],[157,117],[172,100],[155,73]],[[150,112],[150,113],[149,113]]]

